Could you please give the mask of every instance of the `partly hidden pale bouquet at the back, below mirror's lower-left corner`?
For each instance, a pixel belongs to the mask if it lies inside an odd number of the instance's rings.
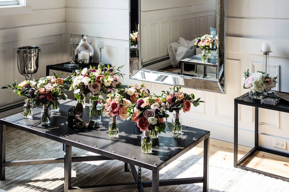
[[[135,103],[139,97],[148,97],[150,95],[150,90],[148,90],[144,83],[128,85],[124,89],[119,89],[119,93],[123,95],[124,98]]]

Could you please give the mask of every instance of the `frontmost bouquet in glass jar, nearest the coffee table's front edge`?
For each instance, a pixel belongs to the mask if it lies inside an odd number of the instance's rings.
[[[141,151],[143,153],[152,152],[151,138],[157,138],[160,132],[165,132],[166,124],[164,118],[169,115],[164,109],[165,104],[160,98],[155,96],[138,98],[134,107],[129,108],[129,120],[136,122],[138,128],[143,131],[144,135],[141,138]],[[174,128],[174,125],[167,123],[168,128]]]

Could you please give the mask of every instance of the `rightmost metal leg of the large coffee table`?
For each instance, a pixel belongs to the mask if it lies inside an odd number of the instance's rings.
[[[203,192],[209,191],[209,148],[210,148],[210,137],[204,140]]]

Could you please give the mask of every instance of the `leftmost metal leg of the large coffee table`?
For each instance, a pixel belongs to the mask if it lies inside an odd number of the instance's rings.
[[[6,125],[0,125],[0,180],[5,180]]]

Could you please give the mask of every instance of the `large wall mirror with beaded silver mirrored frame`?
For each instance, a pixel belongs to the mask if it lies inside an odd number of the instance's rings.
[[[130,0],[129,77],[225,93],[225,0]]]

